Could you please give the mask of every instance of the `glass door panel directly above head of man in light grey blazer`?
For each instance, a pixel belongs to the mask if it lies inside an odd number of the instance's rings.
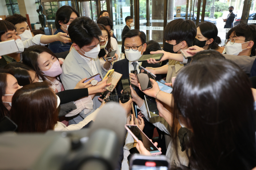
[[[90,17],[95,22],[98,20],[97,3],[95,1],[80,0],[78,2],[78,12],[80,16]]]

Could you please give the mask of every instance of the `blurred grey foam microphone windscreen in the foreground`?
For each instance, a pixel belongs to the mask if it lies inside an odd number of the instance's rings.
[[[95,122],[90,127],[89,135],[98,129],[108,129],[114,131],[119,142],[124,142],[126,129],[126,111],[116,102],[108,102],[100,109]]]

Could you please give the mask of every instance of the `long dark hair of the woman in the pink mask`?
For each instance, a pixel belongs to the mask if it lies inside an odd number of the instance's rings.
[[[33,68],[33,70],[35,70],[36,72],[36,75],[38,75],[39,78],[42,78],[42,80],[45,81],[47,76],[43,75],[38,66],[39,55],[43,52],[49,53],[50,55],[56,57],[56,55],[47,47],[44,47],[42,45],[33,45],[28,47],[26,51],[22,53],[22,62]],[[56,76],[56,79],[60,81],[60,75]]]

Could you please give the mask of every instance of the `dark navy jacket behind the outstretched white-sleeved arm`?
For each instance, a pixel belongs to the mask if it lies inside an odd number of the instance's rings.
[[[54,33],[56,35],[57,33],[65,33],[62,29],[57,29]],[[62,43],[61,41],[54,41],[49,44],[48,49],[50,49],[53,53],[60,53],[64,51],[69,51],[72,43]]]

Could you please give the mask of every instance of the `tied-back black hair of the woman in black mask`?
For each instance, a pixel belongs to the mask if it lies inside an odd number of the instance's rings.
[[[208,49],[217,49],[221,43],[220,37],[218,37],[218,29],[216,25],[211,22],[202,22],[198,25],[202,35],[208,39],[213,39]]]

